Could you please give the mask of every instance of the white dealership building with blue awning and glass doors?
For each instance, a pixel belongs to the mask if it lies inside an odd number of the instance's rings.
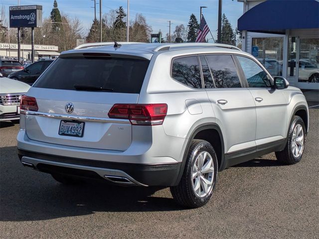
[[[319,90],[319,0],[238,0],[242,50],[273,76]]]

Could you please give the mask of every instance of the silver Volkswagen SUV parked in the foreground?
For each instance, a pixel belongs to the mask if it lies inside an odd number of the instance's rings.
[[[21,100],[18,155],[60,183],[169,186],[206,204],[217,172],[276,152],[301,160],[303,93],[240,49],[87,44],[61,53]]]

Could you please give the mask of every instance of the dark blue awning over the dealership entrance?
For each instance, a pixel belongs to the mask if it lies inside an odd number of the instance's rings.
[[[238,30],[282,34],[305,28],[319,28],[319,0],[267,0],[238,19]]]

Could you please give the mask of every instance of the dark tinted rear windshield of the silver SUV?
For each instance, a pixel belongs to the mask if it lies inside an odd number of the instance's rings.
[[[115,57],[58,58],[33,87],[76,90],[80,85],[139,94],[149,62]]]

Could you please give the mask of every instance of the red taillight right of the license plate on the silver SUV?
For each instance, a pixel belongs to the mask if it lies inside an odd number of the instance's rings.
[[[112,119],[130,119],[132,124],[162,124],[167,114],[166,104],[115,104],[108,116]]]

